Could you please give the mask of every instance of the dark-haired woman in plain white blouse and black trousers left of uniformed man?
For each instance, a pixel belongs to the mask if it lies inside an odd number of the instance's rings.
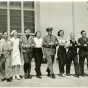
[[[34,58],[35,58],[35,70],[36,70],[36,76],[38,78],[42,78],[41,77],[41,63],[42,63],[42,57],[43,57],[43,52],[42,52],[42,41],[43,39],[41,38],[41,33],[39,31],[37,31],[35,33],[35,38],[34,38],[34,42],[35,42],[35,47],[34,47]]]

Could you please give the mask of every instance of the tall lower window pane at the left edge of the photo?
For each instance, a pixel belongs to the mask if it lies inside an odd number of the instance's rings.
[[[7,31],[7,10],[0,9],[0,33]]]

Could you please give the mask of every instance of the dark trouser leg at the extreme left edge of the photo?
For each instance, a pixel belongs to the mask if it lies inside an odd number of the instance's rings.
[[[0,57],[0,73],[2,77],[5,76],[5,58],[3,54]]]

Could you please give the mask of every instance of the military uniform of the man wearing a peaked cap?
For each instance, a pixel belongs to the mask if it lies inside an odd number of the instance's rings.
[[[50,46],[49,43],[53,42],[54,45]],[[47,58],[47,64],[48,64],[48,72],[50,71],[51,74],[54,74],[53,72],[53,61],[54,61],[54,56],[56,54],[56,46],[57,46],[57,38],[54,35],[47,35],[43,38],[43,47],[45,50],[45,55]]]

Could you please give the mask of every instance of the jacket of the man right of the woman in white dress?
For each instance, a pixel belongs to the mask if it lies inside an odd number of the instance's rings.
[[[27,39],[26,35],[24,34],[21,37],[21,47],[22,47],[22,52],[33,52],[33,47],[32,44],[34,43],[34,39],[32,36],[29,36],[29,38]],[[30,48],[26,48],[26,45],[31,45]]]

